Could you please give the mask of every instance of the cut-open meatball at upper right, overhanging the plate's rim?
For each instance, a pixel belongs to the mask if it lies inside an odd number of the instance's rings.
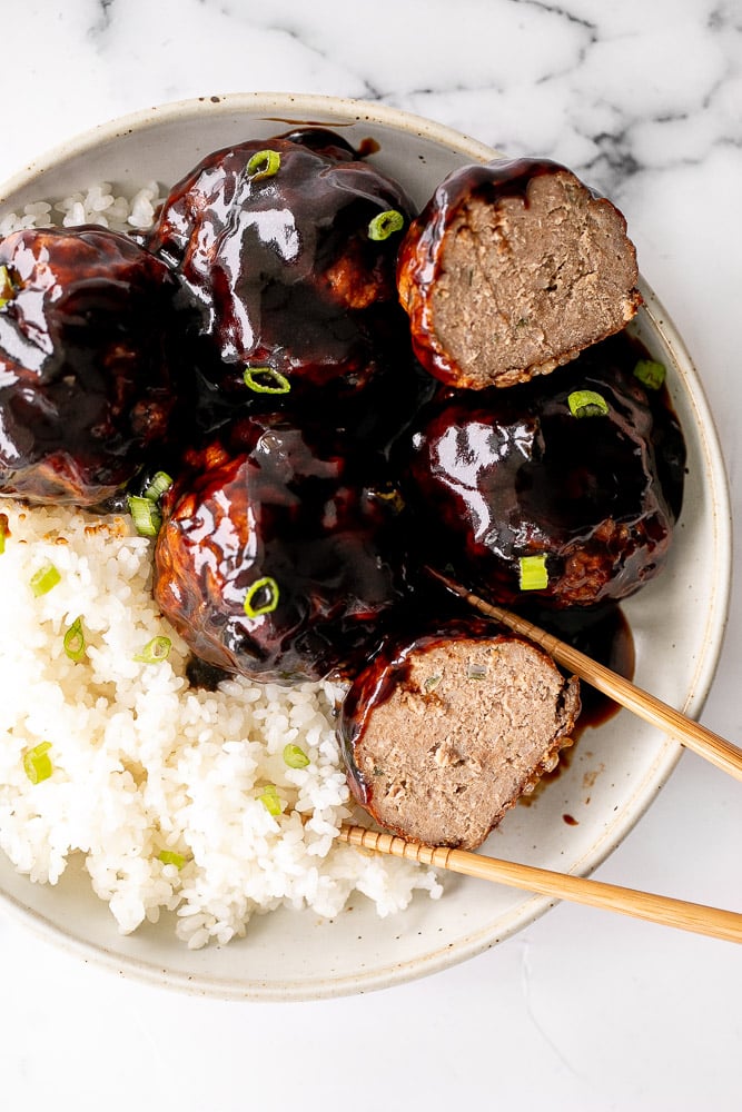
[[[452,173],[398,265],[418,359],[471,389],[526,381],[622,329],[641,304],[637,277],[621,212],[541,159]]]

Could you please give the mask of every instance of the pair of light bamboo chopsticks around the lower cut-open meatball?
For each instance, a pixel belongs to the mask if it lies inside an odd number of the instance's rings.
[[[493,606],[476,595],[465,590],[459,584],[432,568],[427,569],[444,586],[464,598],[475,609],[495,618],[501,625],[514,633],[527,637],[544,648],[554,659],[585,679],[603,694],[609,695],[622,706],[645,722],[659,726],[671,734],[687,748],[711,761],[723,772],[742,780],[742,749],[732,745],[705,726],[673,709],[666,703],[655,698],[649,692],[642,691],[629,679],[617,675],[590,656],[560,641],[552,634],[540,629],[525,618]],[[556,873],[533,865],[522,865],[466,850],[433,848],[406,842],[392,834],[367,830],[364,826],[343,826],[343,841],[352,845],[388,853],[395,857],[406,857],[426,865],[435,865],[452,872],[477,876],[486,881],[495,881],[509,887],[524,888],[558,900],[570,900],[574,903],[602,907],[605,911],[632,915],[635,919],[675,926],[696,934],[706,934],[729,942],[742,942],[742,914],[724,911],[721,907],[709,907],[705,904],[689,903],[685,900],[674,900],[671,896],[655,895],[651,892],[640,892],[636,888],[621,887],[592,881],[583,876]]]

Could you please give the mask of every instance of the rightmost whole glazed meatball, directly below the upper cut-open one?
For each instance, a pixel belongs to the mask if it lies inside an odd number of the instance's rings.
[[[408,460],[421,558],[505,605],[617,600],[656,575],[684,447],[635,363],[615,337],[546,379],[429,407]]]

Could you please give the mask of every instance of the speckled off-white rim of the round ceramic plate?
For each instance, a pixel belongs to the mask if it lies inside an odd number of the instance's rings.
[[[345,118],[348,123],[363,122],[370,126],[379,125],[396,131],[407,131],[416,137],[429,139],[458,153],[468,156],[472,160],[488,161],[498,157],[498,151],[457,131],[446,125],[426,119],[415,113],[393,108],[386,105],[364,101],[354,98],[340,98],[317,93],[295,92],[229,92],[215,96],[202,96],[165,102],[117,117],[110,121],[76,133],[60,143],[47,149],[27,166],[0,183],[0,206],[20,189],[32,186],[34,179],[52,169],[57,163],[78,158],[93,150],[101,143],[116,141],[133,132],[147,132],[161,123],[174,122],[180,118],[195,116],[234,116],[240,112],[263,115],[284,112],[286,117],[276,117],[280,122],[294,122],[294,117],[311,123],[338,126],[338,120],[316,119],[316,117],[335,116]],[[706,634],[695,673],[689,686],[689,692],[682,711],[698,717],[701,714],[716,671],[721,655],[724,631],[729,616],[729,603],[732,583],[732,519],[731,500],[726,469],[721,451],[716,425],[711,414],[709,403],[685,344],[670,319],[651,287],[640,278],[640,290],[644,298],[643,311],[646,312],[653,328],[662,336],[679,363],[683,388],[689,396],[696,416],[696,426],[702,434],[703,448],[710,468],[709,481],[715,494],[714,527],[716,547],[720,553],[720,566],[713,596],[713,604],[705,616]],[[665,735],[664,744],[659,751],[654,763],[646,773],[643,783],[637,787],[634,797],[626,804],[624,820],[612,827],[610,836],[593,844],[584,860],[573,865],[573,871],[588,875],[620,845],[623,838],[635,826],[649,808],[656,792],[663,786],[682,754],[682,746]],[[651,791],[650,787],[654,788]],[[548,896],[532,896],[526,905],[520,905],[513,913],[513,922],[505,924],[496,935],[489,931],[479,931],[461,942],[455,952],[444,946],[425,957],[417,957],[405,963],[388,964],[382,971],[348,975],[340,981],[326,979],[321,984],[314,983],[286,985],[284,989],[271,987],[268,984],[254,984],[250,989],[230,986],[221,981],[210,979],[208,974],[195,977],[186,976],[174,970],[162,970],[154,963],[112,953],[95,943],[86,942],[70,935],[62,926],[58,926],[46,916],[24,905],[10,894],[0,892],[3,906],[12,911],[26,925],[41,937],[53,942],[67,953],[76,954],[83,961],[93,960],[96,964],[117,971],[119,975],[131,974],[138,980],[185,991],[189,994],[207,995],[218,999],[239,999],[250,1001],[298,1001],[320,1000],[368,992],[375,989],[389,987],[432,973],[441,972],[463,961],[491,949],[520,930],[532,924],[554,906],[555,901]]]

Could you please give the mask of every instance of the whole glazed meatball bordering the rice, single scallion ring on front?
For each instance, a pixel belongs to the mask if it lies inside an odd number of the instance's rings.
[[[169,493],[155,598],[201,659],[256,679],[348,674],[404,590],[394,490],[365,453],[245,419]]]

